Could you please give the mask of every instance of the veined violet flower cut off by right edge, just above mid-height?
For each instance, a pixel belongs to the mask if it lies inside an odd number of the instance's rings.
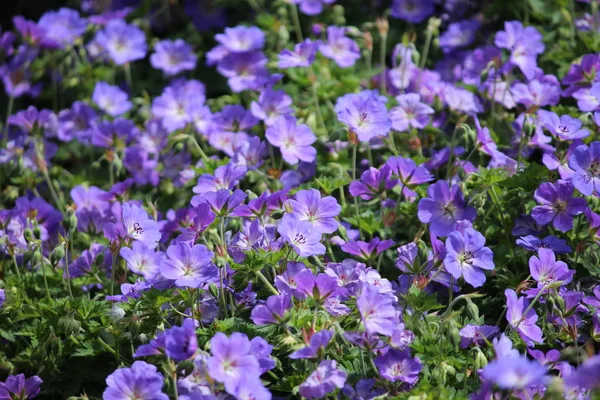
[[[600,142],[577,146],[569,158],[569,167],[575,171],[573,186],[581,194],[600,193]]]

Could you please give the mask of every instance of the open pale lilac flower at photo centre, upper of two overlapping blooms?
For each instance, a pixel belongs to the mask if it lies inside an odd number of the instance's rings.
[[[336,217],[342,207],[334,197],[321,198],[321,193],[316,189],[300,190],[295,197],[295,200],[288,200],[288,204],[300,221],[309,221],[322,234],[337,230],[339,223]]]

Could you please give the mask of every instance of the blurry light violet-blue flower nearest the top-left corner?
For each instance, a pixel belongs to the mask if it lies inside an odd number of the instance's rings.
[[[79,12],[70,8],[48,11],[40,18],[38,26],[42,28],[46,40],[60,43],[63,47],[72,45],[87,28],[87,21]]]

